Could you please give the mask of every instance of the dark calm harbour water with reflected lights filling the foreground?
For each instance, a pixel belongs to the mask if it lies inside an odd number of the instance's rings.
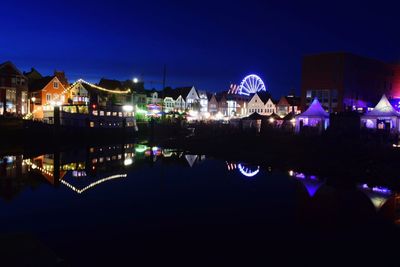
[[[387,188],[134,144],[4,157],[0,176],[6,266],[396,266]]]

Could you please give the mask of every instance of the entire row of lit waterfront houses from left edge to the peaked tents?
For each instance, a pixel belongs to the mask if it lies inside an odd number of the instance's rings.
[[[63,71],[44,76],[34,68],[21,72],[9,61],[0,64],[0,115],[23,117],[32,114],[35,119],[43,119],[54,106],[111,109],[111,106],[127,104],[146,115],[187,112],[197,114],[198,118],[244,117],[252,113],[284,117],[290,112],[298,113],[300,109],[299,98],[294,94],[273,100],[266,92],[249,96],[231,89],[209,93],[194,86],[145,90],[143,83],[132,80],[69,83]],[[73,107],[65,109],[75,110]]]

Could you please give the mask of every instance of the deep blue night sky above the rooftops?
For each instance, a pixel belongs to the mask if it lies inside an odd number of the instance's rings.
[[[278,97],[299,90],[305,54],[400,59],[400,13],[379,1],[7,1],[0,61],[72,81],[139,76],[146,87],[221,91],[259,74]]]

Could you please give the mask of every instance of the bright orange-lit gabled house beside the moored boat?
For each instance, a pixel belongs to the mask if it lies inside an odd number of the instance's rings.
[[[55,105],[68,103],[68,95],[64,94],[66,88],[56,76],[30,80],[28,88],[35,119],[43,119],[43,112],[53,110]]]

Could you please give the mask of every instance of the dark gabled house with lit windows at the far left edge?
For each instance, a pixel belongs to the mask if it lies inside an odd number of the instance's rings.
[[[10,61],[0,64],[0,115],[28,113],[28,81]]]

